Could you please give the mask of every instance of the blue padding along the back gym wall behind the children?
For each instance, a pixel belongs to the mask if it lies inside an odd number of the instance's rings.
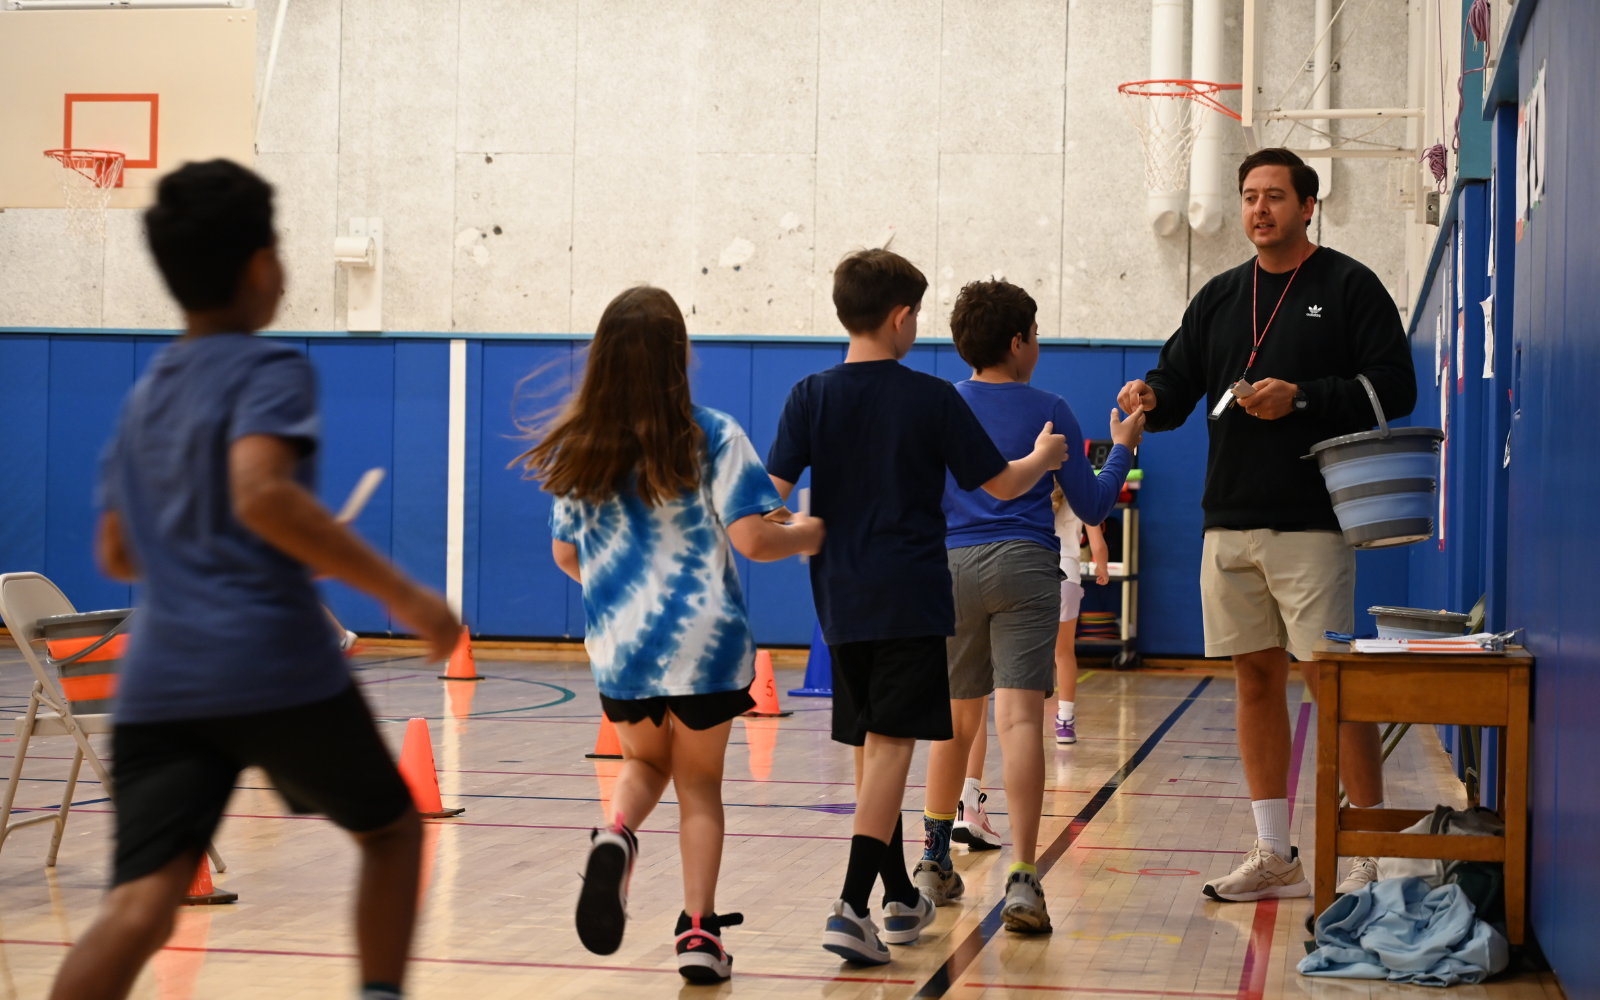
[[[168,338],[0,334],[0,398],[18,429],[18,475],[0,486],[0,568],[42,570],[80,606],[128,603],[128,587],[94,570],[94,466],[122,397]],[[408,573],[445,587],[450,346],[445,339],[285,338],[318,373],[323,410],[320,491],[333,507],[373,466],[389,478],[357,530]],[[581,339],[467,341],[467,442],[462,611],[478,635],[579,638],[582,600],[550,560],[550,499],[506,466],[526,448],[526,422],[557,408],[582,365]],[[763,459],[789,389],[843,360],[840,342],[694,344],[694,398],[731,413]],[[1106,437],[1117,389],[1155,363],[1155,347],[1046,344],[1034,382],[1067,398],[1085,437]],[[906,363],[947,379],[970,370],[950,344],[918,344]],[[531,378],[518,390],[518,382]],[[546,413],[547,416],[547,413]],[[1142,514],[1139,646],[1198,654],[1200,490],[1205,421],[1152,434],[1141,448]],[[810,485],[810,475],[800,486]],[[798,502],[795,499],[795,502]],[[816,611],[798,560],[739,557],[760,642],[803,645]],[[1379,566],[1381,565],[1381,566]],[[1370,568],[1371,566],[1371,568]],[[1405,594],[1403,557],[1363,555],[1358,602]],[[402,630],[376,602],[326,582],[330,606],[360,632]],[[1398,587],[1398,590],[1395,590]],[[1366,603],[1360,603],[1365,610]]]

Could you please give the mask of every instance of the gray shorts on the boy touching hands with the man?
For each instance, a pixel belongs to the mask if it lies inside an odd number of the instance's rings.
[[[995,688],[1056,688],[1061,555],[1038,542],[950,549],[955,637],[947,640],[950,698]]]

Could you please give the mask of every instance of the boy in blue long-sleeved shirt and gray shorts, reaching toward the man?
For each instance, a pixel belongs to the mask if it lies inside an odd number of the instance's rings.
[[[1027,454],[1043,421],[1067,440],[1083,440],[1066,400],[1027,381],[1038,363],[1034,298],[1008,282],[973,282],[950,312],[950,336],[973,378],[955,390],[973,408],[1000,454]],[[1115,445],[1099,475],[1077,448],[1054,474],[1072,510],[1086,525],[1106,520],[1139,446],[1144,413],[1110,411]],[[1021,496],[995,499],[968,493],[954,478],[944,488],[955,637],[949,642],[950,717],[955,738],[928,754],[926,848],[914,880],[934,902],[962,894],[950,866],[950,826],[966,773],[966,754],[995,693],[995,733],[1005,757],[1005,790],[1014,862],[1006,875],[1000,917],[1013,931],[1050,930],[1050,912],[1034,866],[1045,795],[1040,728],[1054,688],[1056,622],[1061,611],[1061,539],[1050,504],[1051,477]]]

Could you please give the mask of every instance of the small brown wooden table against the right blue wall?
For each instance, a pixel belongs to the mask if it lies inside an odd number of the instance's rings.
[[[1352,653],[1322,642],[1312,653],[1317,706],[1315,912],[1333,904],[1344,858],[1438,858],[1506,866],[1506,936],[1522,944],[1528,912],[1528,682],[1533,656]],[[1506,837],[1400,834],[1432,810],[1339,808],[1339,723],[1411,722],[1499,726],[1499,814]]]

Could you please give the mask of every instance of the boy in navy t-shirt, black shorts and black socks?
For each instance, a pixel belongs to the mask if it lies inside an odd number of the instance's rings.
[[[834,654],[834,739],[856,747],[856,818],[822,947],[864,965],[886,963],[885,942],[914,944],[934,915],[906,874],[899,811],[915,742],[952,734],[946,475],[962,490],[1013,498],[1067,453],[1040,421],[1034,446],[1006,462],[949,382],[899,363],[917,339],[926,288],[910,261],[886,250],[838,262],[834,306],[850,352],[789,392],[766,459],[786,499],[811,469],[811,514],[827,523],[811,590]],[[882,936],[867,917],[880,875]]]

